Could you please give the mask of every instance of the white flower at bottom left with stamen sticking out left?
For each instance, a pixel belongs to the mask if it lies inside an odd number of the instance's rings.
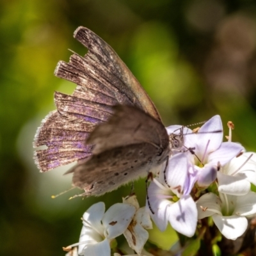
[[[79,243],[72,244],[64,250],[78,245],[79,255],[110,256],[109,242],[125,232],[136,208],[129,204],[114,204],[108,211],[104,211],[104,203],[99,202],[84,212]]]

